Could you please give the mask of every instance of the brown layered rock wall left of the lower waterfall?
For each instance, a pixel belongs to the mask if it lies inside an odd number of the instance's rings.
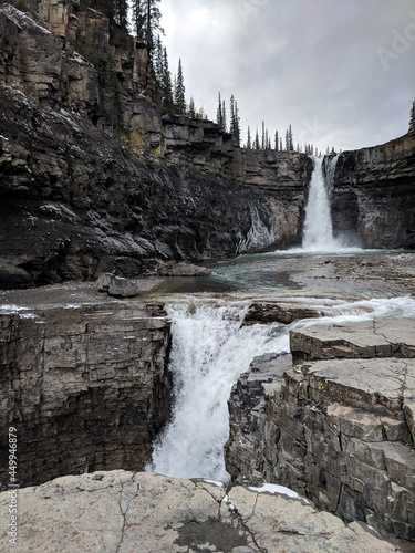
[[[169,417],[169,321],[158,304],[112,302],[0,314],[1,476],[18,436],[18,482],[142,470]]]

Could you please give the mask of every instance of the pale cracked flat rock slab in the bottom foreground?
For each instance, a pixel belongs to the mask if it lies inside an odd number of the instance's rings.
[[[272,489],[271,489],[272,491]],[[305,500],[146,472],[63,477],[18,491],[18,546],[9,544],[10,495],[0,494],[2,551],[21,553],[392,553],[365,526],[345,525]],[[6,549],[4,549],[6,547]]]

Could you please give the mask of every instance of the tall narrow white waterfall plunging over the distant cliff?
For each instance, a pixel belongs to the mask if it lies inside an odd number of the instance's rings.
[[[305,208],[302,250],[335,251],[341,247],[341,243],[333,237],[330,199],[322,167],[323,158],[313,157],[313,163],[314,169]]]

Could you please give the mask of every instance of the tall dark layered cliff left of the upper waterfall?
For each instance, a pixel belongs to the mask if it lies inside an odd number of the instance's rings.
[[[218,125],[162,116],[145,49],[108,42],[93,10],[42,6],[49,29],[8,4],[0,13],[1,288],[299,241],[307,156],[242,160]],[[76,49],[110,51],[115,67]],[[112,139],[121,124],[144,143]]]

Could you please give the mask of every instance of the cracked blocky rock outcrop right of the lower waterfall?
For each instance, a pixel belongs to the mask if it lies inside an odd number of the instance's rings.
[[[282,483],[346,521],[415,541],[415,323],[291,333],[229,400],[234,481]]]

